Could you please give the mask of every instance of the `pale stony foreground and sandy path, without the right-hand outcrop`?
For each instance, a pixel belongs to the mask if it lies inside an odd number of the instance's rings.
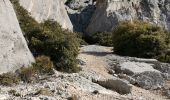
[[[116,59],[127,60],[112,54],[110,47],[83,46],[78,59],[81,72],[56,71],[52,76],[42,76],[38,83],[0,86],[0,100],[68,100],[70,97],[73,100],[169,100],[161,91],[145,90],[120,79],[117,73],[109,74],[110,63]],[[168,86],[167,82],[167,89]],[[15,94],[11,94],[11,90]],[[128,93],[121,94],[124,90]]]

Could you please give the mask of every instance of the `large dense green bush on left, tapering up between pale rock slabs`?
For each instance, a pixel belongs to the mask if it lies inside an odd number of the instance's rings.
[[[77,72],[76,57],[79,51],[80,40],[76,33],[63,30],[52,20],[37,23],[29,13],[19,5],[18,0],[11,0],[17,13],[18,20],[28,47],[35,57],[49,56],[57,70]]]

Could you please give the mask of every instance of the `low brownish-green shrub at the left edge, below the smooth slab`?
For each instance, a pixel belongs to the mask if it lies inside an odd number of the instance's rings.
[[[12,86],[18,84],[20,78],[14,73],[5,73],[0,75],[0,85]]]

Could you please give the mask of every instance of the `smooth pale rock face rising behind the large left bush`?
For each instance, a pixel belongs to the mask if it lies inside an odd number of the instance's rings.
[[[38,22],[52,19],[57,21],[62,28],[73,30],[63,0],[20,0],[20,4]]]

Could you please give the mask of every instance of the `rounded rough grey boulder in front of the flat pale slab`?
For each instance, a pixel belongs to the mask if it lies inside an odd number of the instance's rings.
[[[164,86],[164,78],[158,72],[143,72],[133,76],[136,79],[137,85],[144,89],[157,89]]]

